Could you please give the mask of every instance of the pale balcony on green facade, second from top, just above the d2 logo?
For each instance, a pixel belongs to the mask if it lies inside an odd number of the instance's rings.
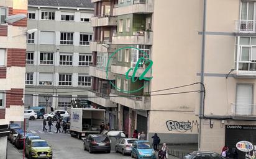
[[[153,32],[138,31],[134,32],[131,36],[119,36],[117,33],[114,33],[112,43],[124,45],[153,45]]]

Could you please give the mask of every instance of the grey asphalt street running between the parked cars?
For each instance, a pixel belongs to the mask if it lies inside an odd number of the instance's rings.
[[[52,132],[43,132],[42,125],[43,121],[40,119],[29,121],[29,128],[27,130],[35,135],[39,135],[43,140],[46,140],[48,144],[52,145],[54,159],[131,159],[129,155],[122,156],[121,153],[116,152],[90,154],[83,150],[82,140],[71,137],[70,134],[55,133],[55,122],[52,126]],[[22,150],[17,150],[10,142],[8,142],[7,147],[8,159],[22,159]],[[169,155],[168,159],[176,159],[176,157]]]

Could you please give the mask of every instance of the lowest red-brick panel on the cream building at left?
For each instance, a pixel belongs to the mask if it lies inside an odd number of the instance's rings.
[[[10,105],[24,105],[22,97],[23,89],[11,88],[11,90],[7,90],[6,108],[10,108]]]

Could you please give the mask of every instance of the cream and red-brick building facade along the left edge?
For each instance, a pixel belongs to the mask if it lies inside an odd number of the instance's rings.
[[[27,14],[27,0],[0,2],[0,158],[7,156],[10,121],[24,120],[25,36],[27,19],[7,24],[6,18]]]

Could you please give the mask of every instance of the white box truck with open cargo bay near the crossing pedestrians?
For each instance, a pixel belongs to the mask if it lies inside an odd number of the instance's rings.
[[[95,108],[71,108],[71,137],[86,137],[88,134],[99,134],[100,124],[105,120],[105,110]]]

